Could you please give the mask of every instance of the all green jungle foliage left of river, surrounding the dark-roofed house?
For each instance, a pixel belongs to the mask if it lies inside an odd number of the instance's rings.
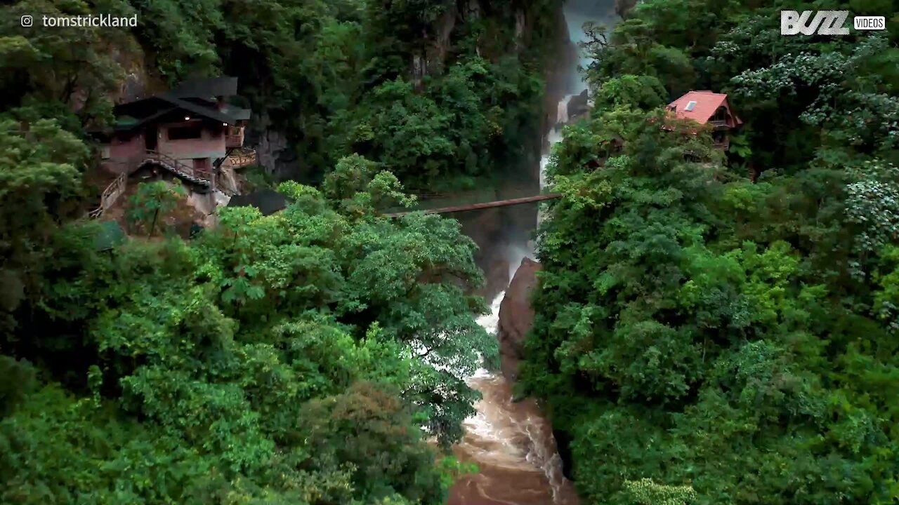
[[[467,4],[0,7],[0,503],[445,501],[471,470],[442,452],[473,412],[460,377],[496,354],[482,273],[455,221],[378,212],[414,200],[401,182],[471,185],[517,155],[556,13]],[[138,27],[38,24],[85,13]],[[316,187],[283,182],[286,210],[221,209],[191,240],[165,225],[185,196],[165,182],[130,197],[129,235],[83,219],[85,132],[129,74],[236,75]]]

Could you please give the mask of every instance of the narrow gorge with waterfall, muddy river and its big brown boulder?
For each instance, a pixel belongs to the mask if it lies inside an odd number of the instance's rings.
[[[561,139],[561,128],[586,110],[587,87],[579,67],[589,60],[577,46],[583,40],[583,23],[593,21],[611,27],[619,19],[616,9],[620,8],[611,0],[565,3],[568,43],[561,58],[565,63],[547,76],[547,110],[556,111],[556,117],[546,121],[539,166],[531,168],[535,173],[521,176],[521,180],[539,181],[536,189],[545,185],[544,171],[552,146]],[[578,502],[577,496],[565,478],[549,421],[538,403],[531,399],[517,401],[512,393],[522,342],[534,317],[530,294],[540,269],[539,262],[534,261],[537,244],[533,240],[539,213],[509,208],[492,209],[490,213],[493,216],[460,217],[460,221],[476,238],[477,226],[485,224],[506,232],[500,234],[504,241],[492,244],[492,250],[484,251],[481,245],[481,266],[488,278],[486,294],[493,301],[490,314],[478,320],[499,341],[502,373],[481,369],[467,379],[483,398],[476,403],[476,415],[465,421],[465,435],[454,452],[459,460],[476,464],[479,472],[453,486],[449,505],[573,505]]]

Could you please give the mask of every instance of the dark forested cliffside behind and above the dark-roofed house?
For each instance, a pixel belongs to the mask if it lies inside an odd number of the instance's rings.
[[[274,129],[307,178],[358,153],[414,189],[472,187],[539,137],[540,62],[556,3],[455,0],[22,0],[4,7],[3,110],[85,125],[147,65],[157,91],[236,75],[257,132]],[[515,10],[531,20],[515,33]],[[133,32],[31,30],[27,13],[138,15]],[[424,68],[415,75],[414,58]],[[54,111],[49,111],[53,109]],[[26,116],[19,112],[18,117]],[[74,125],[72,125],[74,126]]]

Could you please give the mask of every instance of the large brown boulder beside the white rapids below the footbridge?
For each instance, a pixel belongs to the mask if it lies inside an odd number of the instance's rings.
[[[524,337],[534,323],[530,296],[537,287],[537,272],[541,268],[539,262],[530,258],[521,260],[521,266],[515,271],[500,305],[496,338],[500,343],[503,377],[510,381],[518,377],[518,363],[524,357]]]

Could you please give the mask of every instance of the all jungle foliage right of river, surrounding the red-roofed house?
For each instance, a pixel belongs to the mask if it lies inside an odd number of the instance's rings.
[[[888,30],[784,37],[781,9]],[[899,502],[897,12],[653,0],[592,27],[522,374],[585,503]],[[726,154],[665,114],[690,89],[745,121]]]

